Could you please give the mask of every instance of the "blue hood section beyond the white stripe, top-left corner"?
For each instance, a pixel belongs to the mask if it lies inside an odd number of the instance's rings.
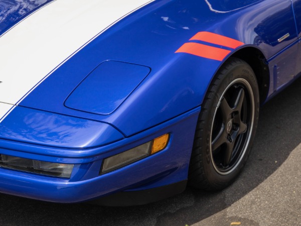
[[[6,0],[0,2],[0,36],[53,0]]]

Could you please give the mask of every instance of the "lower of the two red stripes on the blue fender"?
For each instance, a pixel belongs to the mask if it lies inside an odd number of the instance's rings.
[[[185,43],[176,53],[189,53],[199,57],[222,61],[230,53],[230,50],[206,46],[199,43]]]

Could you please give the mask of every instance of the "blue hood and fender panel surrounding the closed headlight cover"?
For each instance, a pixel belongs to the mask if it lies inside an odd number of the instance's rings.
[[[271,26],[274,21],[277,24]],[[270,28],[264,30],[264,26]],[[205,1],[158,1],[117,23],[79,51],[20,105],[109,123],[126,136],[151,128],[200,105],[222,63],[175,54],[199,31],[253,45],[266,59],[297,39],[290,0],[260,1],[230,13],[212,12]],[[283,33],[291,35],[278,43]],[[66,108],[63,103],[74,87],[105,60],[146,65],[152,71],[113,114],[92,116]]]

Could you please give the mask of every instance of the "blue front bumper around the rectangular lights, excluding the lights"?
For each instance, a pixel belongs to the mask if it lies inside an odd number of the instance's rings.
[[[0,168],[0,192],[70,203],[91,200],[120,191],[140,191],[185,181],[199,111],[200,107],[195,108],[132,137],[87,150],[63,149],[60,152],[58,148],[1,140],[1,154],[69,163],[75,166],[70,179]],[[99,175],[104,158],[129,150],[166,133],[171,134],[171,139],[164,151],[110,173]]]

